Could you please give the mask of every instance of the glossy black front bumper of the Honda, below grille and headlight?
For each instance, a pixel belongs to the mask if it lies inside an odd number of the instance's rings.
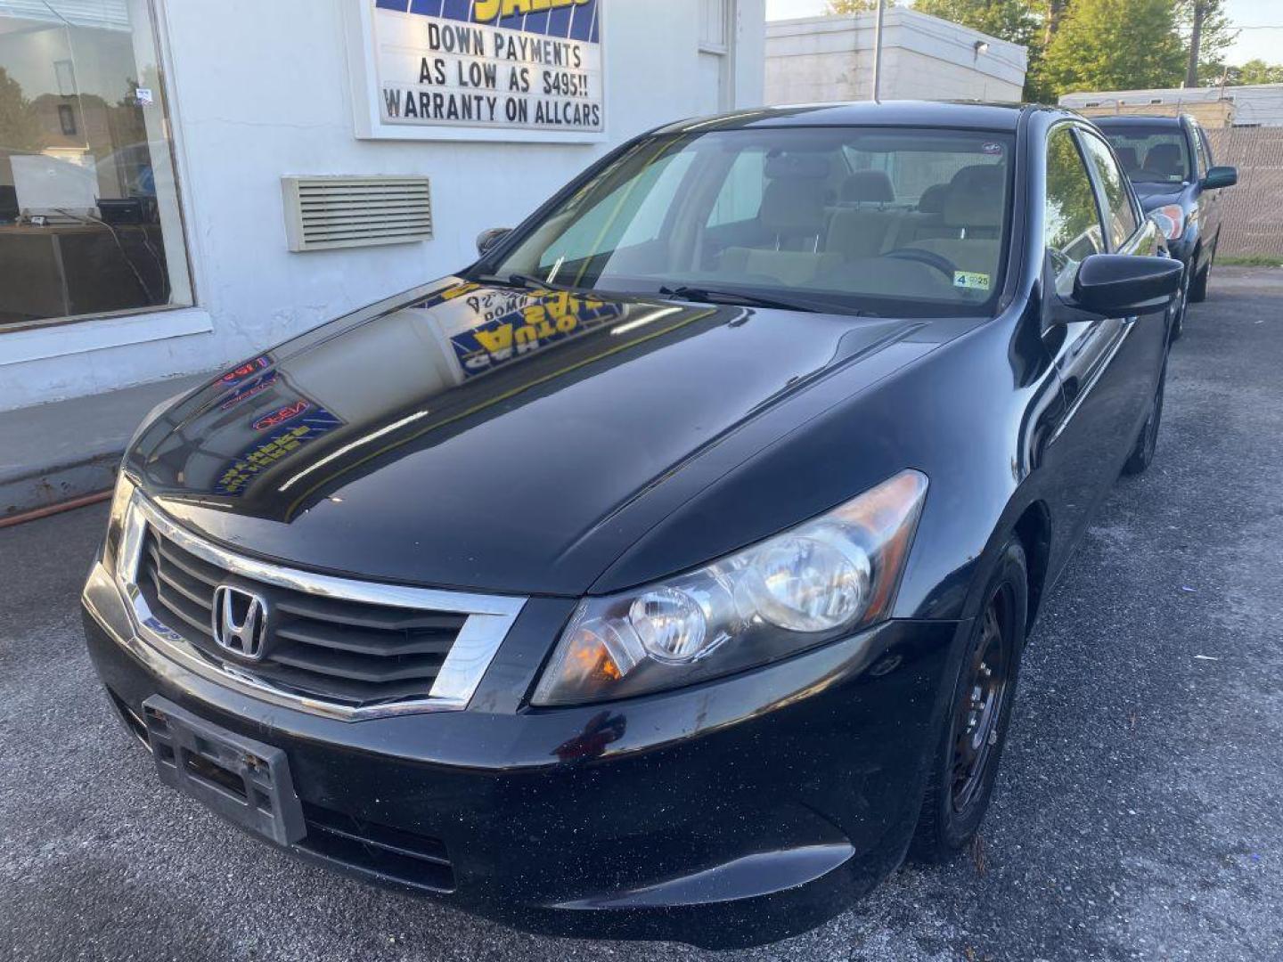
[[[810,929],[899,863],[965,631],[889,622],[706,685],[541,711],[525,695],[571,603],[532,599],[467,711],[353,722],[167,659],[101,566],[83,607],[136,734],[158,694],[286,753],[308,820],[295,854],[527,930],[708,947]]]

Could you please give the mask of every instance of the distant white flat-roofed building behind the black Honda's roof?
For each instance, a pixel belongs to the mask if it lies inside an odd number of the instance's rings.
[[[872,96],[876,15],[808,17],[766,27],[766,103],[867,100]],[[976,44],[988,44],[984,53]],[[1028,55],[979,31],[887,10],[884,100],[1020,100]]]

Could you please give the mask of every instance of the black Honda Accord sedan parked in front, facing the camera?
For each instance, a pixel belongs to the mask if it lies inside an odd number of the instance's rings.
[[[1162,255],[1058,110],[642,136],[153,413],[83,594],[158,781],[520,927],[752,944],[984,816],[1153,457]]]

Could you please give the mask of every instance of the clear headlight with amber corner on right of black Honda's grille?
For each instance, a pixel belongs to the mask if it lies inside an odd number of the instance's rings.
[[[580,704],[690,685],[884,618],[925,496],[926,476],[902,471],[698,571],[585,599],[534,703]]]

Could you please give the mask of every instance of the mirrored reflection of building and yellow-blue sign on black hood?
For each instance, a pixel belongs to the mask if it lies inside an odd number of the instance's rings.
[[[148,473],[162,486],[223,499],[257,500],[271,490],[277,507],[280,495],[290,496],[293,513],[302,493],[375,454],[457,428],[486,408],[534,400],[554,378],[657,333],[740,313],[454,282],[359,326],[341,354],[291,354],[287,344],[225,372],[198,395],[207,443],[154,451]],[[172,414],[141,446],[173,428]],[[353,426],[359,435],[345,430]]]

